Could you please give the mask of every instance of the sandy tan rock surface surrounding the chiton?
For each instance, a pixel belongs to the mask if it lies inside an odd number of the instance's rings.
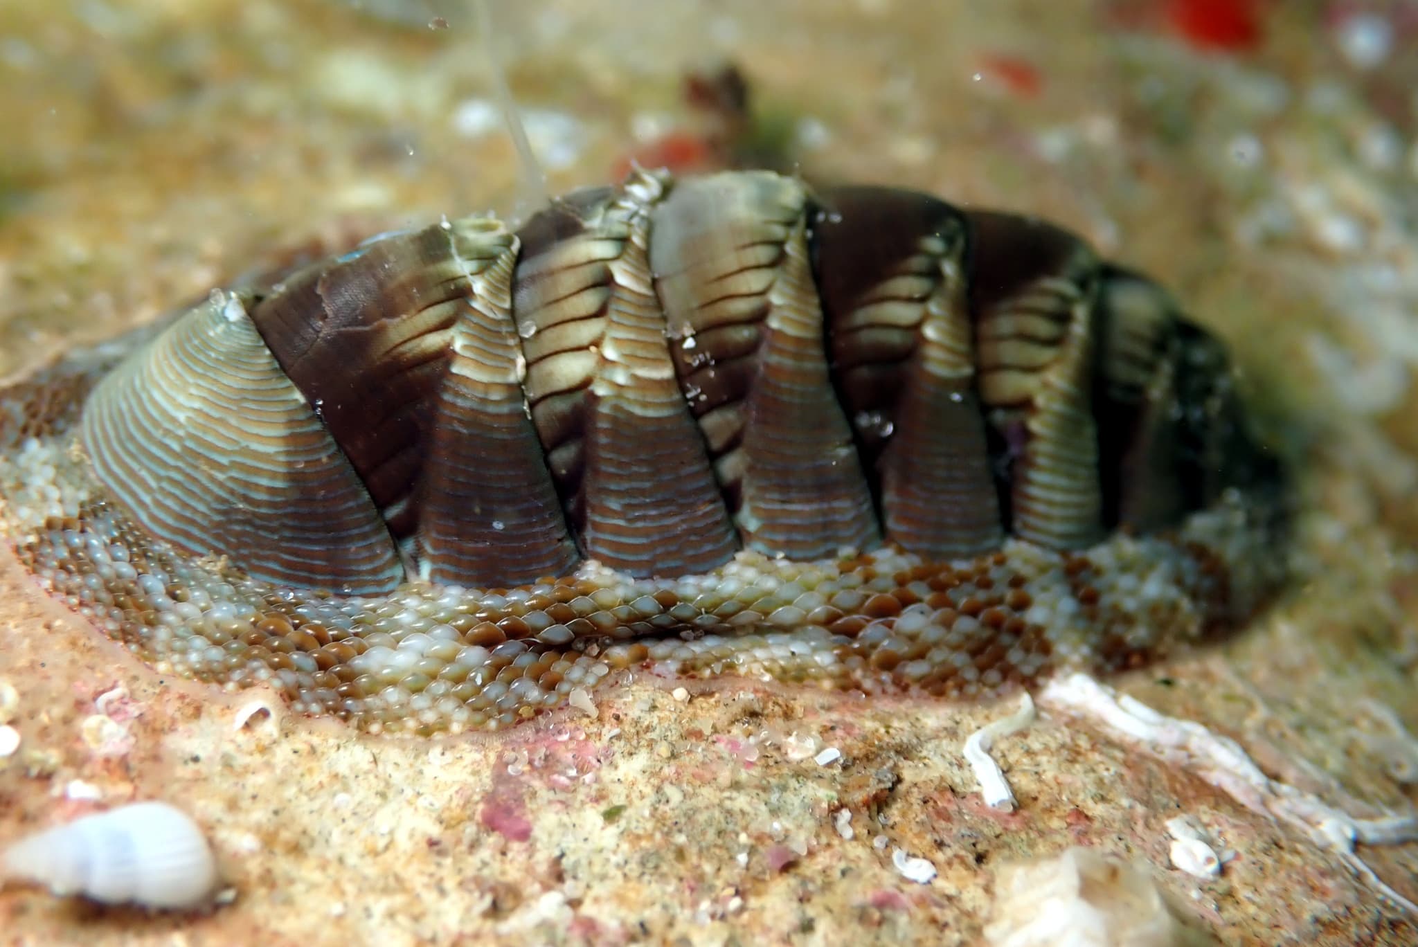
[[[1001,811],[963,746],[1018,697],[640,675],[509,733],[356,737],[163,676],[0,551],[0,841],[160,798],[227,882],[197,916],[11,885],[0,941],[1024,944],[1004,866],[1071,846],[1130,863],[1171,943],[1418,941],[1418,21],[1214,6],[553,0],[495,41],[553,191],[692,142],[681,75],[729,55],[810,179],[1034,211],[1171,285],[1299,469],[1297,578],[1105,683],[1235,744],[1046,690],[994,741]],[[11,4],[0,37],[0,376],[302,247],[535,198],[461,4]],[[1217,873],[1178,868],[1180,817]]]

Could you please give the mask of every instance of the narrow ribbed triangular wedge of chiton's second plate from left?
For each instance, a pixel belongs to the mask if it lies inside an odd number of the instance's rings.
[[[454,325],[421,485],[420,573],[435,583],[518,585],[577,561],[527,415],[512,322],[518,240],[496,221],[464,227],[468,286]]]

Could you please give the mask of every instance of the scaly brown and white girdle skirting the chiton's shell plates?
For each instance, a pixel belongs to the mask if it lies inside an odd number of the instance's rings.
[[[1282,577],[1275,499],[1232,492],[1173,534],[1115,534],[1085,553],[1018,540],[950,564],[893,550],[815,563],[744,551],[676,580],[587,563],[519,588],[292,590],[179,554],[102,496],[74,427],[121,347],[75,353],[0,393],[0,516],[20,561],[164,672],[269,683],[298,712],[369,732],[502,727],[586,705],[631,669],[980,697],[1055,668],[1153,658],[1238,622]]]

